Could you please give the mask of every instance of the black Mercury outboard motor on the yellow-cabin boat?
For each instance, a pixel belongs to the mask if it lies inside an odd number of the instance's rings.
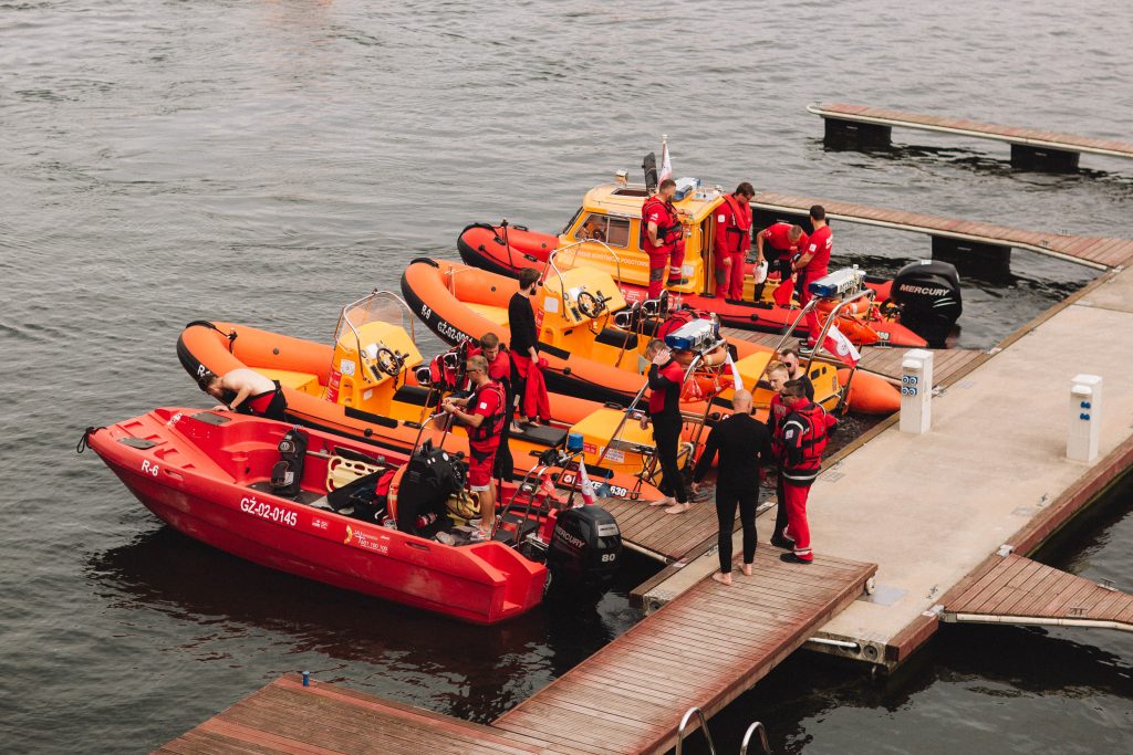
[[[910,263],[893,278],[889,299],[901,307],[901,324],[930,346],[943,346],[963,311],[954,265],[936,259]]]

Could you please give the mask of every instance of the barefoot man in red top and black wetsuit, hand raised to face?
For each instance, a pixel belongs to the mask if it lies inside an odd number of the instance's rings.
[[[681,386],[684,369],[673,359],[661,338],[646,348],[649,358],[649,420],[653,422],[653,441],[661,463],[661,484],[665,496],[650,506],[665,506],[666,514],[681,514],[691,508],[684,477],[676,465],[678,444],[681,439]]]

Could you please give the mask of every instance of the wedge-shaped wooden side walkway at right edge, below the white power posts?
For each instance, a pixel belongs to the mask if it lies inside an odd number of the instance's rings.
[[[1133,632],[1133,595],[1012,554],[944,604],[940,619]]]

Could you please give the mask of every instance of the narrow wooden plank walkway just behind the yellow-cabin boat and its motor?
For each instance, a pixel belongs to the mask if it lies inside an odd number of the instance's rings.
[[[836,220],[864,223],[898,231],[913,231],[934,237],[971,241],[981,244],[1028,249],[1096,268],[1117,267],[1133,257],[1133,240],[1083,237],[1059,233],[1037,233],[991,223],[969,222],[903,209],[870,207],[852,201],[820,199],[798,195],[761,191],[751,200],[756,209],[806,215],[812,205],[823,205]]]

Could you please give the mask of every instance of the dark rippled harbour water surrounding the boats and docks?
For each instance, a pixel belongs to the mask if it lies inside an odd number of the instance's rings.
[[[303,668],[486,721],[636,619],[624,593],[470,629],[229,558],[160,527],[80,428],[199,403],[201,317],[327,340],[338,308],[453,256],[468,222],[556,230],[668,134],[678,174],[1130,235],[1133,164],[1013,173],[1006,148],[897,132],[829,153],[812,101],[1127,139],[1123,5],[0,0],[0,743],[155,746]],[[872,272],[927,239],[845,224]],[[1088,281],[1016,252],[966,281],[987,346]],[[426,349],[433,342],[426,341]],[[1128,489],[1064,564],[1130,587]],[[885,685],[792,660],[722,719],[807,752],[1124,752],[1133,646],[956,629]],[[735,731],[732,731],[735,730]]]

